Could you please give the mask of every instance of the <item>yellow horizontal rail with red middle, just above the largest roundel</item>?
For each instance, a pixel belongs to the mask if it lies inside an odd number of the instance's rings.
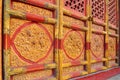
[[[35,21],[35,22],[56,24],[56,19],[54,19],[54,18],[48,18],[48,17],[44,17],[41,15],[31,14],[31,13],[27,13],[27,12],[20,12],[20,11],[16,11],[16,10],[7,10],[7,11],[13,17],[26,19],[26,20],[30,20],[30,21]]]

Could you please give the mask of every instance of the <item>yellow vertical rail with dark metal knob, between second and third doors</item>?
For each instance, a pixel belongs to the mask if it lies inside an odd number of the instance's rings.
[[[91,73],[91,51],[90,51],[90,47],[91,47],[91,27],[92,27],[92,15],[91,15],[91,1],[88,0],[87,1],[87,27],[88,27],[88,31],[87,31],[87,44],[86,44],[86,57],[87,57],[87,71],[90,74]]]

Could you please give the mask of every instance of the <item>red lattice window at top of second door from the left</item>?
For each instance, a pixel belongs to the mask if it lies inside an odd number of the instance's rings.
[[[71,10],[85,13],[85,1],[86,0],[64,0],[64,6]]]

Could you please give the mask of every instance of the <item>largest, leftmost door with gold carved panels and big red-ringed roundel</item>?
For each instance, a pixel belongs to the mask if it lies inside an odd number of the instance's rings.
[[[5,0],[4,3],[5,80],[56,80],[57,2]]]

